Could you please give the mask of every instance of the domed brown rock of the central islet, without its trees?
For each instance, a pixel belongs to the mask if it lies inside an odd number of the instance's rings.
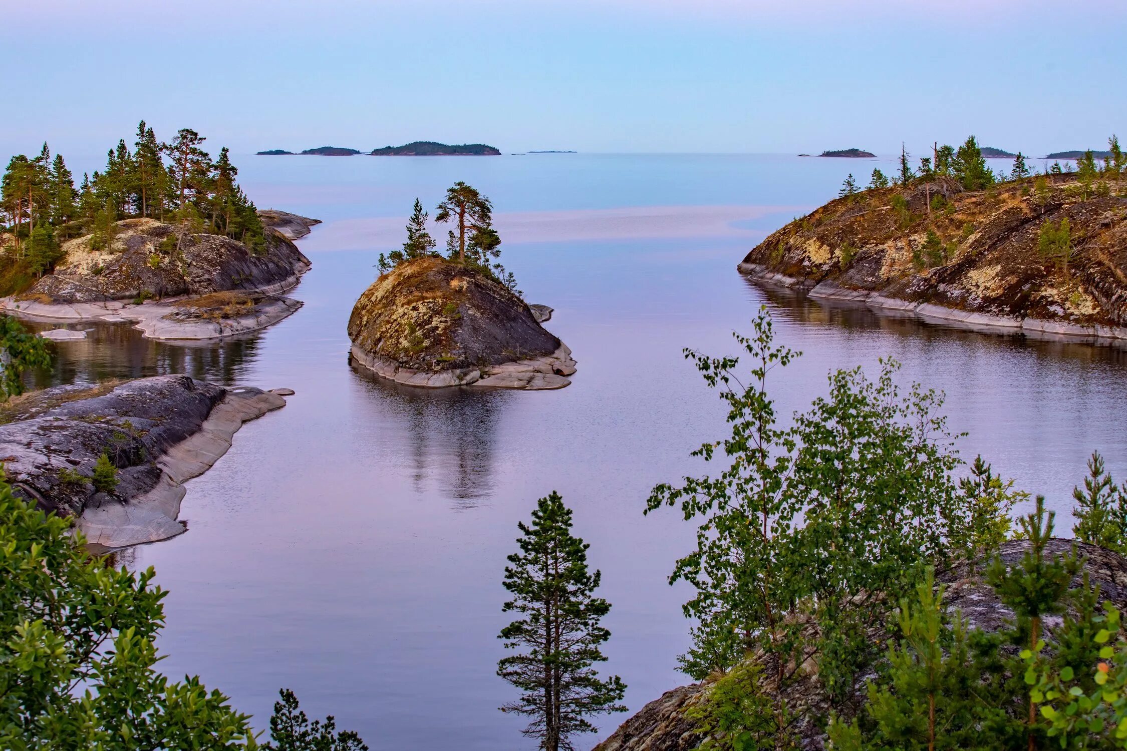
[[[418,386],[558,388],[570,350],[517,295],[440,258],[401,263],[370,286],[348,320],[353,356]]]

